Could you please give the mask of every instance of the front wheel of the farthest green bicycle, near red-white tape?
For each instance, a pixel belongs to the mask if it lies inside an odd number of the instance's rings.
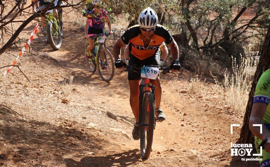
[[[54,22],[51,22],[51,20],[49,20],[46,25],[48,42],[52,49],[59,50],[62,44],[62,25],[59,25],[57,28],[54,26],[55,24],[52,23]]]

